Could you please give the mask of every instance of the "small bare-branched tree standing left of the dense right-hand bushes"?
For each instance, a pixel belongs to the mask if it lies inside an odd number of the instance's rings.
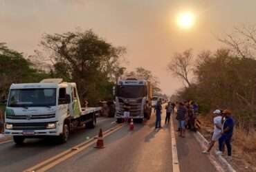
[[[174,74],[181,78],[187,84],[187,87],[191,86],[189,76],[192,72],[192,50],[185,50],[182,54],[174,54],[172,61],[168,65],[168,69]]]

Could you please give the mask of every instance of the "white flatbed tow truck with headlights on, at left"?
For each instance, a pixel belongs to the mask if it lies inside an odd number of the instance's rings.
[[[16,144],[26,138],[54,137],[66,142],[71,130],[93,128],[100,107],[82,108],[75,83],[61,78],[40,83],[12,84],[5,112],[7,136]]]

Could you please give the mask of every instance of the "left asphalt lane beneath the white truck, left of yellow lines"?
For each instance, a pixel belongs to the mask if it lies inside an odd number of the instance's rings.
[[[17,146],[14,142],[0,143],[0,171],[23,171],[53,155],[86,140],[86,137],[96,136],[99,129],[113,127],[113,118],[98,118],[95,129],[77,129],[73,131],[66,144],[56,144],[51,139],[26,139],[25,144]]]

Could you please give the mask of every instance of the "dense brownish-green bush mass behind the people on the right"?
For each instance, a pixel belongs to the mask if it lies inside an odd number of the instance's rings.
[[[234,111],[238,124],[247,122],[251,126],[256,122],[255,59],[238,58],[229,50],[203,52],[199,54],[194,75],[196,83],[181,90],[181,98],[196,100],[203,113],[228,108]]]

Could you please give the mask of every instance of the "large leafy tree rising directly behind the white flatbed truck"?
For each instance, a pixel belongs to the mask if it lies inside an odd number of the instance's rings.
[[[125,54],[124,47],[113,47],[92,30],[46,34],[41,45],[50,52],[55,64],[53,73],[77,83],[82,98],[96,99],[111,96],[111,89],[120,67],[119,59]],[[107,86],[109,87],[109,86]]]

